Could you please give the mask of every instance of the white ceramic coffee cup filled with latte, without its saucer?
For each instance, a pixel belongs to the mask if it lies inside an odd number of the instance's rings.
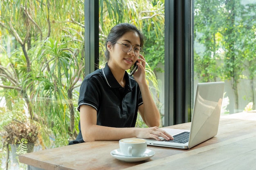
[[[140,157],[147,148],[147,141],[140,138],[126,138],[119,140],[119,147],[127,157]]]

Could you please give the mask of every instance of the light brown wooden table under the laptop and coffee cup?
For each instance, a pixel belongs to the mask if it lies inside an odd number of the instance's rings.
[[[168,126],[189,127],[190,123]],[[256,169],[256,113],[220,117],[216,137],[189,150],[148,146],[155,156],[146,161],[119,161],[110,155],[117,148],[118,141],[92,141],[27,153],[19,160],[29,169],[44,170]]]

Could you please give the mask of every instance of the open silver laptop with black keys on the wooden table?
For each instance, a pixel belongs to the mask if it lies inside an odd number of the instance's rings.
[[[190,130],[163,128],[173,141],[146,139],[150,146],[189,149],[217,135],[224,82],[198,83]],[[179,139],[179,136],[186,139]]]

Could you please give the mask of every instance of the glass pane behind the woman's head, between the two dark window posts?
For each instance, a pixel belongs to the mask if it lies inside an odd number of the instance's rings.
[[[122,9],[120,11],[120,9]],[[105,42],[110,29],[128,22],[139,28],[145,42],[142,55],[148,65],[146,76],[155,102],[164,115],[164,0],[99,2],[99,65],[105,65]],[[162,122],[161,122],[162,123]],[[139,126],[144,126],[140,124]]]

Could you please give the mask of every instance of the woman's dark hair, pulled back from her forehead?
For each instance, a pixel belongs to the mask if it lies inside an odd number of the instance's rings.
[[[111,44],[115,44],[117,42],[117,40],[119,40],[119,38],[121,38],[125,33],[129,32],[129,31],[134,31],[134,32],[138,33],[139,39],[140,39],[140,46],[141,46],[141,48],[143,47],[144,36],[141,33],[141,31],[139,31],[139,29],[137,29],[136,26],[134,26],[132,24],[128,24],[128,23],[117,24],[110,30],[110,33],[108,34],[108,38],[105,43],[105,47],[106,47],[105,57],[107,60],[109,60],[109,58],[110,58],[108,47],[107,47],[108,42],[111,42]]]

